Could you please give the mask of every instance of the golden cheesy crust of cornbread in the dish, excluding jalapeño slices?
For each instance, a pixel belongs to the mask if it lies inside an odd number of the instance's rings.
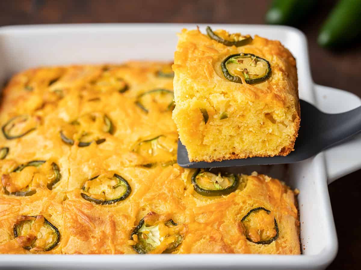
[[[236,192],[224,197],[204,197],[193,190],[193,170],[173,164],[173,159],[162,159],[166,156],[163,152],[157,163],[149,166],[149,157],[133,150],[139,141],[158,135],[177,138],[171,111],[145,113],[135,104],[138,95],[145,91],[172,90],[171,78],[156,76],[164,65],[169,64],[44,67],[19,73],[10,80],[3,91],[1,125],[22,113],[41,120],[36,130],[21,138],[6,140],[0,135],[0,147],[10,149],[8,156],[0,160],[4,178],[0,183],[0,253],[134,254],[131,245],[135,239],[130,240],[130,234],[144,216],[155,212],[163,220],[173,219],[183,226],[183,243],[174,253],[299,254],[293,192],[278,180],[262,175],[243,176]],[[112,83],[112,78],[125,80],[129,89],[119,93],[107,83],[106,76]],[[56,78],[59,79],[49,85]],[[32,90],[25,89],[26,85]],[[57,96],[56,90],[61,90],[63,96]],[[60,130],[90,112],[106,114],[114,124],[113,134],[101,133],[106,141],[99,145],[65,144]],[[176,143],[164,141],[167,147],[174,144],[173,150],[168,149],[173,156]],[[12,172],[32,160],[46,163]],[[52,175],[47,168],[52,162],[59,166],[62,177],[49,190],[46,183]],[[132,189],[129,197],[110,205],[86,201],[81,195],[84,183],[105,173],[126,179]],[[28,176],[35,194],[18,197],[5,193],[4,185],[10,192],[17,191],[23,187],[18,179],[29,180]],[[245,238],[240,220],[251,204],[272,210],[280,226],[283,220],[287,221],[275,243],[257,247]],[[13,226],[23,215],[43,215],[58,228],[59,244],[47,252],[22,248],[31,239],[15,238]]]

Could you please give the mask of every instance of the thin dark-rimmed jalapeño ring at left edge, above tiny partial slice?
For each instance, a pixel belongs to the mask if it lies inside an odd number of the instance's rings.
[[[38,123],[34,117],[28,114],[22,114],[11,118],[3,125],[1,130],[6,139],[12,140],[25,136],[35,130],[37,126]]]

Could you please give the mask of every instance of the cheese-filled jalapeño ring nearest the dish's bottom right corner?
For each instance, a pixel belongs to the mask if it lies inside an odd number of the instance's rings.
[[[278,238],[278,225],[271,211],[264,207],[250,210],[241,220],[248,241],[268,245]]]

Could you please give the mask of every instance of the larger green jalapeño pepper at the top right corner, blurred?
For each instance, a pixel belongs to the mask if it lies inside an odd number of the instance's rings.
[[[345,45],[361,33],[361,0],[341,0],[332,10],[319,32],[322,47]]]

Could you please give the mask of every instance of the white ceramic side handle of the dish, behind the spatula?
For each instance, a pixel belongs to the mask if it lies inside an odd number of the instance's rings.
[[[361,99],[347,91],[314,85],[317,107],[326,113],[342,113],[361,106]],[[327,183],[361,168],[361,134],[324,151]]]

